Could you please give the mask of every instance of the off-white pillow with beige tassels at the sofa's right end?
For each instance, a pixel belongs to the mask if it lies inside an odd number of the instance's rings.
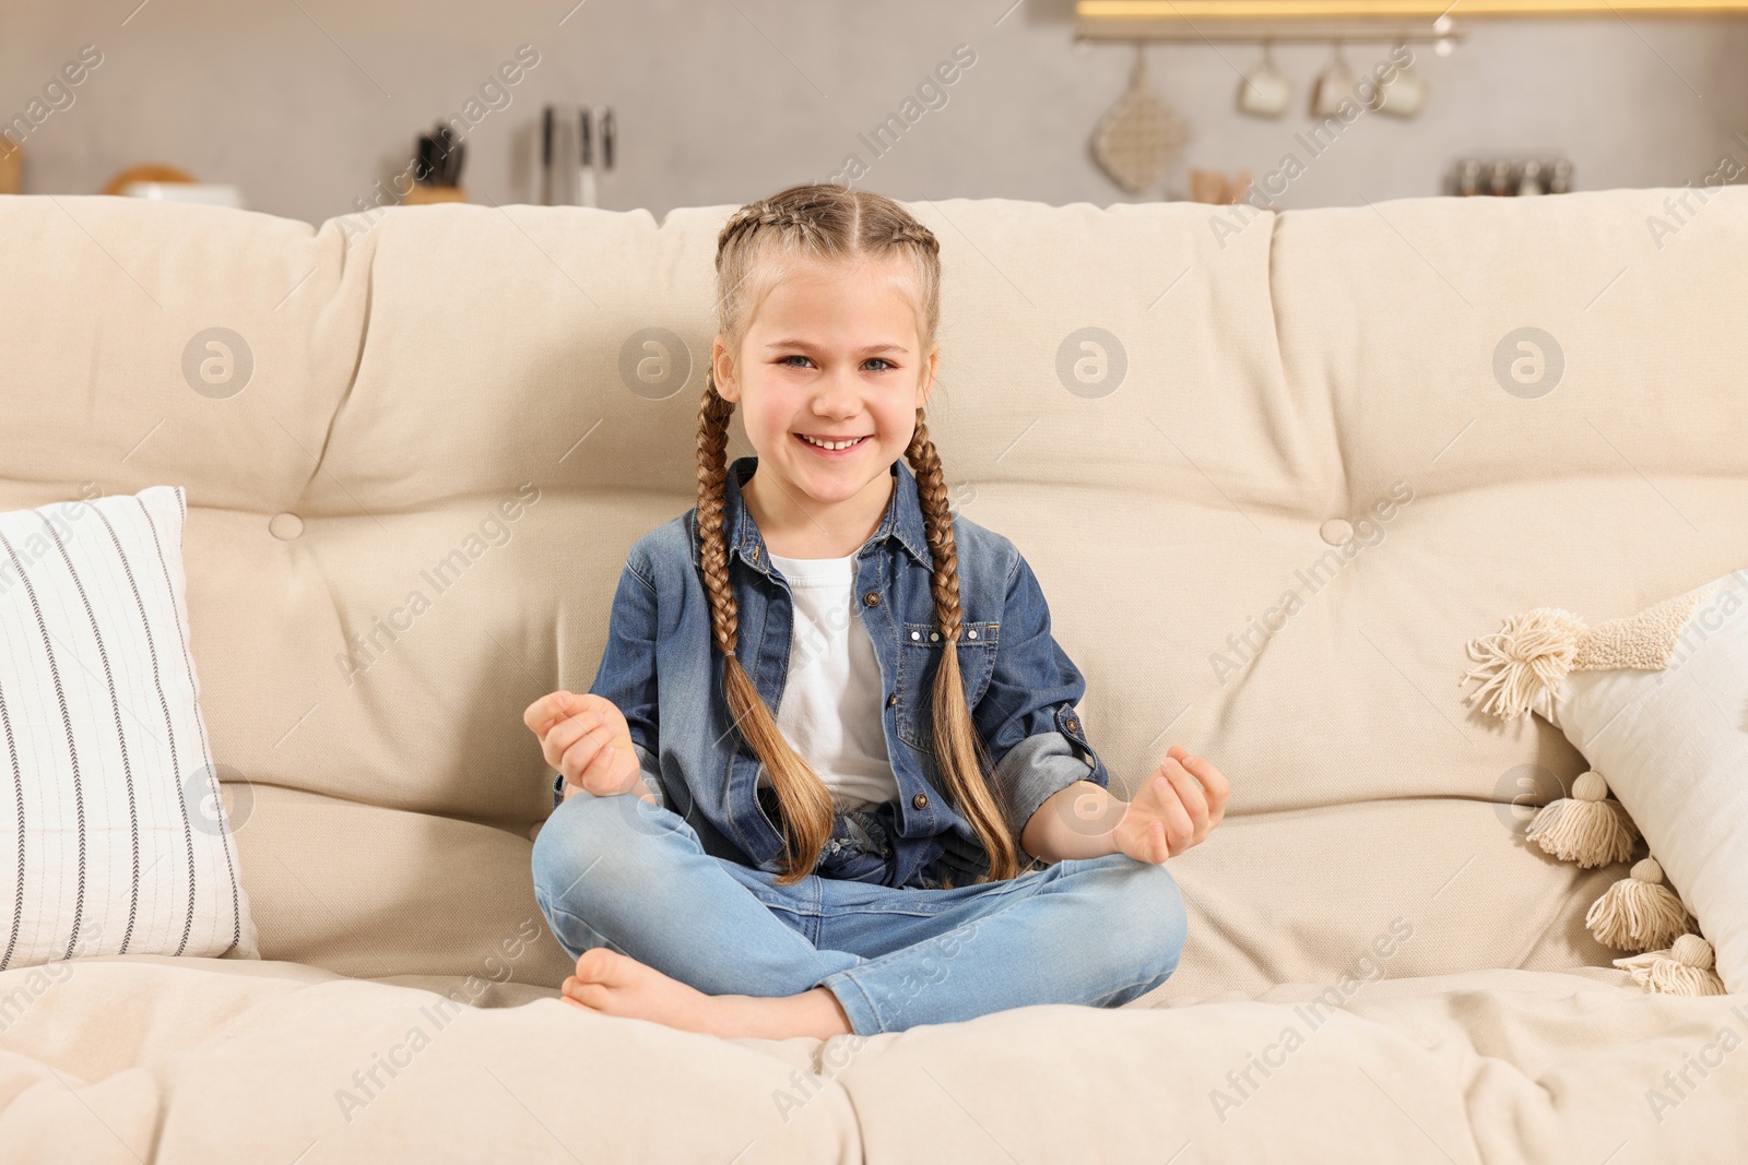
[[[1650,845],[1587,917],[1599,941],[1647,950],[1615,966],[1648,990],[1748,992],[1748,569],[1598,627],[1536,608],[1468,653],[1482,665],[1463,679],[1482,685],[1465,702],[1536,713],[1592,767],[1528,835],[1580,865]]]

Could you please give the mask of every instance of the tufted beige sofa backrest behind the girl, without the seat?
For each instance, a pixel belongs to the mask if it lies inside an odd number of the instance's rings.
[[[1113,789],[1173,742],[1232,781],[1173,859],[1166,990],[1335,978],[1393,926],[1390,975],[1617,954],[1582,915],[1624,870],[1510,803],[1582,756],[1458,676],[1519,610],[1627,615],[1748,554],[1748,190],[1671,194],[907,203],[954,507],[1035,566]],[[732,210],[0,199],[0,508],[187,489],[266,957],[502,976],[544,933],[521,713],[587,690],[626,548],[694,503]],[[551,936],[503,969],[566,973]]]

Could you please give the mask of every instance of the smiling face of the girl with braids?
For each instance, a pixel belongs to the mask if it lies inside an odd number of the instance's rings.
[[[755,309],[738,358],[717,335],[717,391],[739,405],[753,480],[773,473],[783,493],[825,507],[879,494],[884,510],[888,466],[911,444],[939,358],[939,346],[919,353],[916,307],[891,283],[905,271],[902,259],[802,260]],[[806,437],[858,440],[834,452]]]

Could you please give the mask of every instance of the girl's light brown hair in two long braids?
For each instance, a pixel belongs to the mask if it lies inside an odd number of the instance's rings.
[[[717,236],[717,313],[729,351],[739,355],[752,309],[764,292],[790,271],[797,257],[855,260],[909,259],[918,293],[918,332],[923,351],[933,342],[940,321],[940,243],[895,201],[829,182],[788,187],[748,203],[722,225]],[[783,873],[788,886],[813,873],[820,851],[832,835],[836,810],[830,791],[811,765],[788,744],[776,718],[734,655],[739,610],[729,587],[727,548],[722,538],[724,482],[727,479],[729,417],[734,402],[717,393],[715,362],[697,410],[697,533],[699,571],[710,596],[710,627],[722,653],[722,686],[732,727],[771,776],[783,835]],[[1007,828],[1002,789],[988,777],[986,746],[977,735],[960,674],[958,552],[953,541],[953,512],[940,456],[928,438],[923,409],[904,451],[916,477],[918,501],[933,559],[930,583],[935,618],[940,624],[942,658],[930,699],[935,763],[944,793],[977,833],[989,856],[989,870],[977,882],[996,882],[1019,873],[1019,844]],[[951,887],[951,879],[946,880]]]

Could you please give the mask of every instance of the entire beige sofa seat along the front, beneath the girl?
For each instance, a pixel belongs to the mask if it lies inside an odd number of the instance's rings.
[[[59,969],[0,975],[0,1160],[1748,1158],[1731,1086],[1748,1001],[1645,994],[1612,968],[827,1041],[696,1036],[521,983],[465,1006],[461,976],[170,955]]]

